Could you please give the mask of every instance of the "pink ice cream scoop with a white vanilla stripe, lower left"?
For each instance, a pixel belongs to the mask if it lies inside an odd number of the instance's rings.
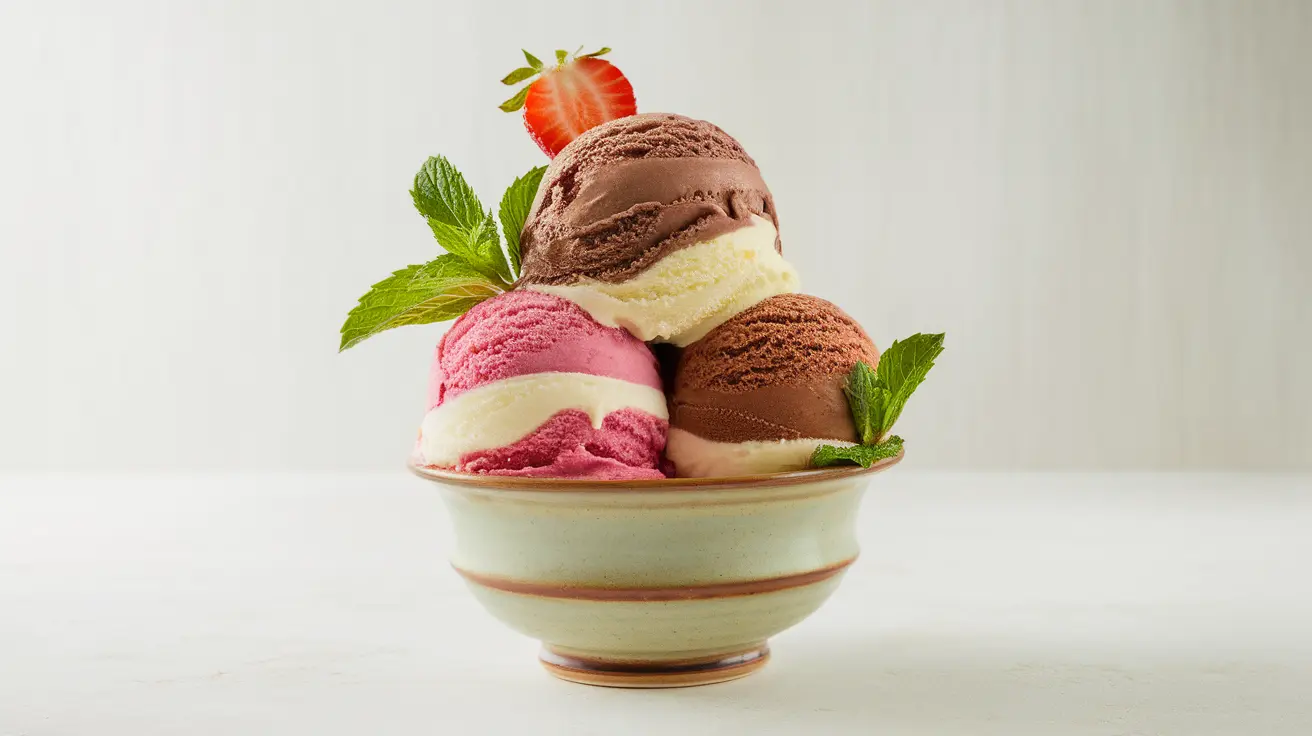
[[[510,291],[438,342],[417,453],[466,472],[664,478],[668,417],[647,345],[567,299]]]

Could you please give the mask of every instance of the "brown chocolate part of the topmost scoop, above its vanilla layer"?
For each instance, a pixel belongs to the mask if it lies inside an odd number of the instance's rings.
[[[756,161],[719,127],[630,115],[571,142],[547,168],[521,235],[526,283],[623,282],[663,257],[753,224],[775,231]]]

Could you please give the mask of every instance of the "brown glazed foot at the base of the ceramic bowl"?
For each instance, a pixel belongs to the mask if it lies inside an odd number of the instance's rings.
[[[749,649],[714,657],[676,661],[607,660],[579,653],[563,655],[543,645],[542,666],[560,680],[601,687],[691,687],[747,677],[765,666],[770,648],[762,642]]]

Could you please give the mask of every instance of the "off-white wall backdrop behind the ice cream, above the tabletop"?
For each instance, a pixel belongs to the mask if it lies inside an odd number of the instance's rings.
[[[909,463],[1312,467],[1312,4],[4,3],[0,468],[395,468],[407,189],[543,161],[521,46],[761,164],[807,290],[946,331]]]

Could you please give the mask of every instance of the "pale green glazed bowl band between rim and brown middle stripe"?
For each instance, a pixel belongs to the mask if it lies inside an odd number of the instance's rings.
[[[461,569],[648,588],[794,575],[857,555],[861,480],[718,492],[534,493],[445,487]]]

